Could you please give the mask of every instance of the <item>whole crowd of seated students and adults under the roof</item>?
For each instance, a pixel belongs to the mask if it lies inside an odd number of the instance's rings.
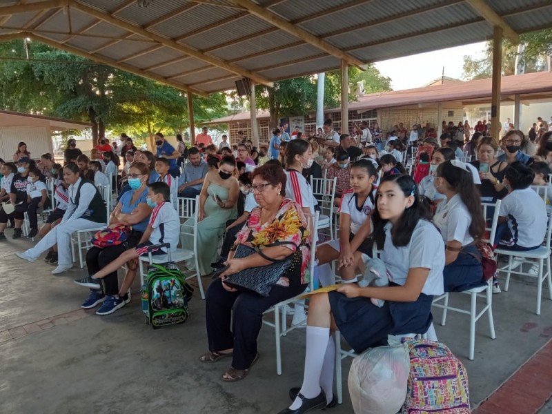
[[[502,200],[493,246],[527,251],[542,245],[546,205],[552,199],[552,132],[543,133],[535,153],[528,155],[523,132],[509,130],[499,142],[484,135],[486,129],[480,126],[471,135],[467,122],[445,123],[438,140],[435,128],[419,124],[408,132],[401,123],[385,135],[377,124],[362,122],[350,134],[339,134],[328,119],[308,139],[298,128],[288,135],[284,127],[275,128],[270,142],[259,148],[243,134],[233,148],[225,135],[217,148],[204,128],[197,146],[186,148],[185,157],[181,146],[175,149],[160,133],[155,136],[155,155],[137,150],[124,135],[120,177],[119,156],[108,148],[94,151],[88,159],[72,140],[64,166],[54,164],[49,154],[37,166],[21,143],[14,163],[1,167],[0,240],[6,241],[8,221],[13,220],[13,238],[18,238],[28,219],[28,237],[40,240],[17,256],[34,262],[47,253],[46,262],[56,264],[52,273],[59,275],[72,267],[72,233],[107,222],[130,226],[124,244],[90,248],[89,275],[75,281],[90,289],[81,307],[101,305],[96,313],[108,315],[130,302],[137,259],[148,246],[168,243],[175,251],[181,243],[182,248],[193,248],[193,240],[179,240],[181,226],[193,219],[181,223],[174,201],[199,196],[197,271],[205,276],[224,268],[207,289],[208,351],[200,361],[231,359],[221,376],[225,382],[248,375],[259,358],[257,336],[264,311],[304,292],[314,277],[308,271],[311,255],[322,286],[335,284],[335,262],[339,288],[313,295],[308,314],[304,299],[288,309],[293,325],[306,320],[306,359],[302,386],[290,390],[292,402],[281,413],[335,404],[331,331],[339,330],[360,353],[386,344],[389,334],[426,333],[435,295],[486,285],[475,247],[489,226],[482,202]],[[109,146],[101,144],[105,145]],[[429,148],[424,152],[427,159],[415,159],[412,150],[405,155],[411,147]],[[405,168],[408,161],[410,173]],[[52,200],[46,177],[54,180]],[[335,188],[327,191],[335,193],[339,209],[336,238],[327,243],[319,239],[313,252],[313,237],[319,237],[309,228],[308,218],[320,210],[322,200],[315,197],[311,178],[335,178]],[[546,187],[547,197],[542,199],[533,185]],[[110,217],[99,191],[103,186],[119,188]],[[47,208],[50,213],[39,229],[37,215]],[[240,245],[262,254],[236,258]],[[361,288],[357,275],[364,273],[375,248],[389,284]],[[229,275],[287,257],[293,257],[292,264],[268,297],[225,283]],[[126,275],[119,285],[117,271],[123,266]],[[530,273],[538,273],[535,266]],[[493,291],[500,292],[496,277]],[[382,299],[383,306],[371,298]]]

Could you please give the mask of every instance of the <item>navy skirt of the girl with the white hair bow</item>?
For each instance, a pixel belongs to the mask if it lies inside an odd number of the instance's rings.
[[[472,288],[485,286],[483,266],[477,247],[465,246],[458,253],[457,259],[444,266],[444,291],[463,292]]]

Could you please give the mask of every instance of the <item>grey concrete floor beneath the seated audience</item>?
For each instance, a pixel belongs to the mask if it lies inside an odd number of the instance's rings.
[[[284,372],[278,376],[273,331],[264,327],[250,375],[226,384],[219,377],[228,359],[197,359],[207,348],[197,289],[186,324],[153,331],[140,312],[138,284],[132,302],[113,315],[77,311],[88,293],[72,283],[80,270],[55,277],[52,266],[14,257],[29,246],[24,239],[0,244],[0,413],[277,413],[289,404],[288,388],[302,381],[303,331],[282,339]],[[449,313],[446,326],[436,324],[440,340],[466,365],[473,406],[551,339],[552,301],[543,299],[542,315],[535,315],[535,286],[534,279],[513,279],[509,293],[493,297],[497,339],[489,339],[482,317],[474,361],[467,359],[467,315]],[[451,303],[467,308],[469,296],[455,294]],[[436,310],[437,321],[440,315]],[[345,386],[350,364],[344,361]],[[332,413],[352,412],[344,396]],[[542,410],[548,412],[550,405]]]

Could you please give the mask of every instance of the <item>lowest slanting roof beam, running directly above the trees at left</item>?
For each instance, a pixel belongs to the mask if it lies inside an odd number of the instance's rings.
[[[92,61],[96,61],[98,63],[103,63],[104,65],[111,66],[112,68],[117,68],[117,69],[124,70],[126,72],[130,72],[130,73],[133,73],[133,74],[141,76],[141,77],[145,77],[145,78],[157,81],[157,82],[165,83],[166,85],[170,85],[173,88],[177,88],[179,90],[184,90],[185,92],[188,92],[188,93],[193,93],[195,95],[200,95],[202,97],[208,97],[209,96],[209,94],[207,92],[203,92],[203,91],[197,90],[195,88],[188,88],[188,86],[184,85],[183,83],[177,83],[177,82],[174,82],[174,81],[170,81],[169,79],[166,79],[162,76],[154,75],[154,74],[149,73],[149,72],[145,72],[144,70],[134,68],[130,65],[127,65],[126,63],[117,63],[117,61],[114,61],[112,59],[108,59],[106,57],[101,57],[101,56],[98,56],[98,55],[92,55],[92,54],[90,54],[90,53],[88,53],[84,50],[79,49],[79,48],[74,48],[72,46],[63,45],[61,43],[58,43],[57,41],[53,41],[53,40],[50,40],[50,39],[46,39],[45,37],[37,36],[36,34],[32,34],[32,33],[21,33],[21,34],[22,34],[21,37],[30,37],[34,41],[39,41],[39,42],[44,43],[48,46],[52,46],[52,48],[65,50],[66,52],[72,53],[73,55],[79,55],[79,56],[84,57],[86,59],[90,59]]]

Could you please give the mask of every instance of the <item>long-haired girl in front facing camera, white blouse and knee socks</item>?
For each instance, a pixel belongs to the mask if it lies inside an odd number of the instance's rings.
[[[335,347],[339,329],[354,351],[385,344],[387,335],[424,333],[431,324],[433,295],[443,292],[444,243],[418,201],[408,175],[382,179],[373,213],[373,238],[391,282],[387,287],[342,284],[313,295],[308,308],[302,387],[292,388],[293,404],[280,414],[306,413],[332,405]],[[378,308],[370,298],[384,299]]]

